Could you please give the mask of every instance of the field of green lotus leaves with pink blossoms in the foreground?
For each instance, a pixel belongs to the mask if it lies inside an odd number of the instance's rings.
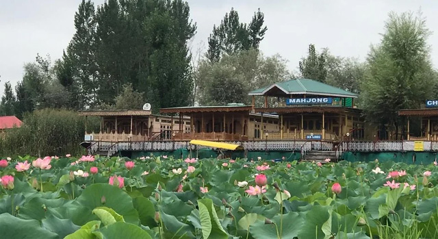
[[[69,156],[0,160],[3,236],[438,236],[435,164]]]

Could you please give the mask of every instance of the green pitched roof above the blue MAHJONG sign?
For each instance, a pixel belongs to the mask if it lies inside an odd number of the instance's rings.
[[[279,88],[285,95],[326,95],[332,97],[357,98],[357,94],[324,84],[313,79],[291,79],[253,90],[248,95],[265,95],[272,88]]]

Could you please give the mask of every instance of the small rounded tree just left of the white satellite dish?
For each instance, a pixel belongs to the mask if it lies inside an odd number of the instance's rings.
[[[133,90],[131,84],[126,84],[114,101],[116,110],[141,110],[144,105],[143,92]]]

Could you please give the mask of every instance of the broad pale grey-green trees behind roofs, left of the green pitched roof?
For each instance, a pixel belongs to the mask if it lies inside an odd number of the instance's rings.
[[[251,49],[224,55],[219,62],[201,61],[198,68],[198,102],[202,105],[250,103],[248,92],[288,79],[280,55],[266,57]]]

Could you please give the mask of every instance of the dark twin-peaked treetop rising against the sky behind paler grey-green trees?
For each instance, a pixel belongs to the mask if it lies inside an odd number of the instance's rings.
[[[226,13],[220,25],[214,25],[208,38],[206,57],[210,62],[218,62],[222,55],[231,55],[250,48],[259,49],[268,27],[264,26],[264,14],[260,9],[254,14],[249,25],[240,23],[239,14],[233,8]]]

